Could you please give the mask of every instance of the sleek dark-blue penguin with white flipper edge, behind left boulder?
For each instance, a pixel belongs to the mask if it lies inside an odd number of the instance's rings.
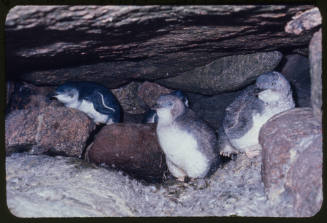
[[[66,107],[86,113],[96,124],[120,121],[120,105],[106,87],[92,82],[67,82],[51,95]]]

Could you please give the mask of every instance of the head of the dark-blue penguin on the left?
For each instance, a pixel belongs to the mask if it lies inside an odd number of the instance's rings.
[[[78,90],[72,83],[60,85],[52,95],[64,104],[73,103],[78,100]]]

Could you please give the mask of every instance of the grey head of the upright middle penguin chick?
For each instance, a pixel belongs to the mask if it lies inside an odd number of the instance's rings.
[[[171,94],[161,95],[153,107],[157,111],[159,123],[171,123],[185,111],[182,100]]]

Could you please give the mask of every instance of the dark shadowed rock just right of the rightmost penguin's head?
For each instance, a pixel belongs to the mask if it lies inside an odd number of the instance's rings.
[[[285,58],[281,73],[290,82],[296,107],[311,106],[310,65],[307,57],[291,54]]]

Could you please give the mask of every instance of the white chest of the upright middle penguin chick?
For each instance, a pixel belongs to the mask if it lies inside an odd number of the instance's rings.
[[[160,127],[159,125],[157,127],[157,135],[166,158],[175,164],[183,164],[203,156],[198,151],[198,144],[195,138],[176,126]]]

